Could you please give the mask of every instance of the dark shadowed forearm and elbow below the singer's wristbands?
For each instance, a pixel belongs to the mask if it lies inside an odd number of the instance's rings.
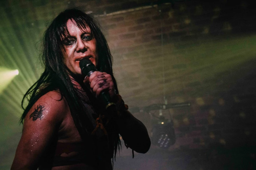
[[[116,119],[119,134],[129,148],[139,153],[146,153],[151,145],[145,125],[128,110],[120,112]]]

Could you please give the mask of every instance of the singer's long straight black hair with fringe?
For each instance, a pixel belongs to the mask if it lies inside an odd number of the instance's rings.
[[[22,107],[24,112],[21,117],[21,123],[23,123],[26,114],[41,96],[49,91],[58,90],[62,97],[68,102],[71,115],[81,138],[86,140],[94,127],[86,116],[87,114],[85,114],[85,112],[87,110],[83,107],[82,101],[77,96],[77,92],[69,78],[61,51],[63,48],[62,38],[69,35],[67,29],[67,21],[69,19],[74,21],[80,29],[86,28],[86,26],[90,27],[92,35],[96,39],[98,52],[96,68],[98,71],[106,72],[112,76],[115,91],[118,93],[117,84],[112,72],[112,56],[105,36],[102,34],[92,16],[80,9],[67,9],[61,12],[51,22],[44,33],[41,60],[43,61],[45,69],[39,80],[28,89],[23,97]],[[28,101],[28,105],[24,107],[26,100]],[[119,144],[120,139],[114,141],[114,155],[116,155],[117,146],[119,148]]]

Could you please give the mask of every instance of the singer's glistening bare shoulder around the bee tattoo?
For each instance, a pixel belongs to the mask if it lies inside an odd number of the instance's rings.
[[[69,110],[65,98],[58,91],[50,91],[40,97],[30,108],[24,123],[43,120],[61,122]]]

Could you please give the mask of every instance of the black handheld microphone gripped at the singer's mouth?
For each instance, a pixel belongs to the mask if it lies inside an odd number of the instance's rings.
[[[80,60],[79,66],[81,68],[81,72],[84,77],[85,76],[90,77],[93,74],[93,72],[96,71],[94,64],[88,58],[83,58],[82,60]],[[111,111],[115,110],[115,103],[111,102],[111,97],[108,92],[106,91],[101,92],[99,95],[99,99],[101,100],[101,102],[103,103],[103,105],[107,110],[111,110]]]

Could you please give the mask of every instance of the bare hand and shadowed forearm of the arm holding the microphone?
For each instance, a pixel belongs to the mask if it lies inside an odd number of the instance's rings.
[[[90,85],[91,91],[96,96],[104,90],[108,90],[112,98],[115,96],[111,75],[107,73],[95,71],[89,78],[85,78],[84,83]],[[149,150],[150,138],[145,125],[140,120],[136,119],[128,110],[123,110],[116,122],[119,133],[129,148],[139,153],[146,153]]]

